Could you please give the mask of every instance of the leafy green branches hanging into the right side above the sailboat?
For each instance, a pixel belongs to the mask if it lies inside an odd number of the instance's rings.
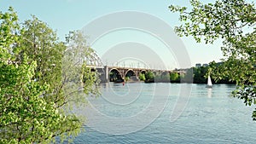
[[[196,42],[213,43],[222,39],[224,60],[221,66],[212,66],[213,78],[236,81],[232,93],[246,105],[256,104],[256,9],[245,0],[217,0],[203,4],[190,1],[192,9],[171,5],[172,12],[180,14],[183,25],[175,31],[179,36],[192,36]],[[256,120],[256,110],[253,112]]]

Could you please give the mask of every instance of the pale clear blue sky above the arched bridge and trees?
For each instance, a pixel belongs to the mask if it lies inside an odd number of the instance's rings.
[[[213,2],[213,0],[201,1],[202,3]],[[0,0],[0,10],[5,12],[9,6],[12,6],[17,11],[20,22],[31,19],[32,14],[36,15],[39,20],[43,20],[49,27],[56,30],[61,40],[65,39],[64,37],[68,32],[84,30],[84,27],[85,35],[88,37],[92,37],[94,32],[100,32],[101,28],[105,29],[106,31],[102,31],[99,37],[89,40],[89,44],[93,49],[96,49],[96,53],[108,65],[142,66],[143,64],[139,64],[138,61],[143,61],[144,65],[153,68],[174,69],[189,67],[189,65],[195,66],[196,63],[204,64],[212,60],[220,61],[219,59],[223,58],[220,49],[221,41],[205,44],[195,43],[192,37],[172,37],[172,35],[176,35],[172,29],[174,26],[179,26],[181,22],[178,21],[178,14],[173,14],[168,9],[171,4],[189,7],[189,0]],[[144,26],[148,29],[136,26],[127,27],[121,21],[123,20],[122,16],[114,15],[122,12],[133,14],[133,19],[128,21],[131,25],[143,22],[143,19],[139,17],[140,14],[142,16],[146,14],[146,18],[157,20],[159,23],[153,26],[154,22],[145,22]],[[100,25],[98,25],[99,22],[94,24],[108,15],[113,16],[113,21],[111,21],[113,23],[108,20],[101,21]],[[120,26],[107,31],[108,25],[113,26],[116,23],[120,23]],[[171,29],[162,30],[164,25],[170,26]],[[89,26],[92,26],[90,32],[86,30]],[[150,28],[156,28],[157,31],[149,32]],[[163,40],[162,36],[170,36],[170,40],[168,38]],[[176,45],[176,42],[180,45]],[[131,46],[134,47],[131,48]],[[143,47],[145,48],[144,51]],[[113,49],[123,49],[123,51],[116,50],[115,53]],[[179,49],[185,50],[188,55],[178,53]],[[132,50],[133,53],[129,50]],[[112,53],[110,54],[109,51]],[[121,54],[118,54],[117,51],[120,51]],[[140,53],[144,58],[136,57],[137,55],[134,53]],[[121,55],[121,58],[116,56],[113,59],[113,55]],[[157,58],[154,58],[155,55]],[[125,61],[128,58],[130,58],[130,62]],[[189,64],[183,65],[182,60],[189,60]]]

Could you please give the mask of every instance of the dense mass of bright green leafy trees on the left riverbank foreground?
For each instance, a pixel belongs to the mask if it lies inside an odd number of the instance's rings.
[[[56,136],[72,139],[83,124],[73,113],[73,104],[96,95],[97,81],[86,59],[82,66],[67,60],[84,54],[84,49],[89,55],[91,49],[81,37],[68,37],[77,49],[58,41],[55,32],[35,16],[20,25],[12,8],[0,13],[0,20],[0,143],[49,143]]]

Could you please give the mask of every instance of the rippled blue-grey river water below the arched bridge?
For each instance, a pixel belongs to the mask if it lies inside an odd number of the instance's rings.
[[[90,115],[74,143],[254,143],[253,107],[231,97],[233,89],[226,84],[212,89],[205,84],[104,84],[102,96],[89,101],[106,118]],[[190,95],[177,103],[184,90]],[[184,104],[182,112],[175,110],[178,104]],[[173,122],[172,112],[181,112]],[[121,124],[109,118],[120,118]]]

